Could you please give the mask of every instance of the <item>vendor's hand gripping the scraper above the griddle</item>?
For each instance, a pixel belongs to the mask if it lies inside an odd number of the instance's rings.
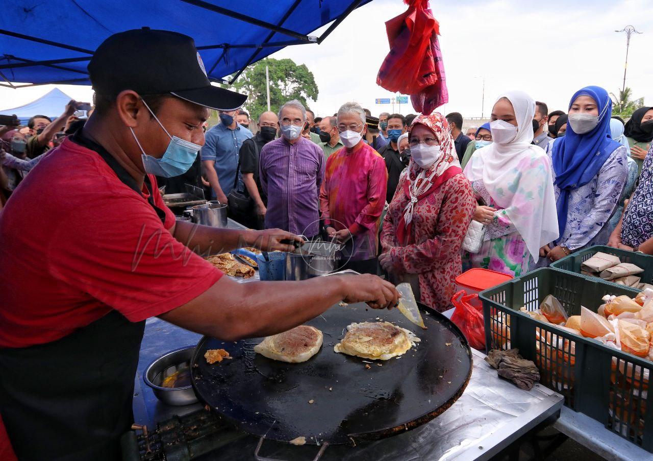
[[[400,294],[389,281],[380,279],[376,275],[342,275],[345,285],[345,303],[366,302],[373,309],[391,309],[396,305]]]

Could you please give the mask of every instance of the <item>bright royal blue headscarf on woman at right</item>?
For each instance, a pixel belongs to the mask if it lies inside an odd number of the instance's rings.
[[[556,172],[554,184],[560,189],[560,196],[556,202],[560,238],[567,227],[569,192],[594,179],[610,154],[620,146],[610,137],[612,100],[608,92],[600,86],[586,86],[571,97],[569,108],[577,97],[583,95],[596,101],[599,109],[599,124],[589,133],[579,135],[574,133],[571,124],[567,123],[567,133],[553,143],[552,160]]]

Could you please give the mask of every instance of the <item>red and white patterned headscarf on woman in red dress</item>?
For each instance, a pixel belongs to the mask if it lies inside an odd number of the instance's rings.
[[[408,167],[402,173],[402,178],[407,175],[404,192],[406,192],[409,201],[404,209],[405,225],[400,226],[400,228],[407,228],[407,226],[410,225],[413,220],[413,207],[415,207],[415,203],[417,203],[419,199],[422,199],[437,190],[439,186],[441,186],[452,175],[462,172],[460,162],[458,162],[458,155],[456,155],[456,149],[454,148],[453,139],[451,138],[451,133],[449,133],[447,119],[444,118],[441,113],[436,111],[433,111],[430,115],[420,114],[415,117],[415,120],[413,120],[413,123],[408,130],[409,136],[411,131],[413,131],[413,128],[419,124],[426,126],[426,128],[430,129],[430,131],[436,135],[442,154],[440,158],[438,158],[438,160],[428,168],[420,167],[411,158]],[[445,171],[451,167],[455,168],[447,172],[445,175]]]

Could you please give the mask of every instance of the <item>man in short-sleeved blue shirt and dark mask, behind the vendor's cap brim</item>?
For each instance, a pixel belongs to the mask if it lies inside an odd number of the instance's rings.
[[[252,134],[236,122],[238,109],[220,111],[219,114],[220,123],[206,132],[201,154],[204,174],[211,184],[213,196],[220,203],[227,203],[227,196],[236,179],[240,146]]]

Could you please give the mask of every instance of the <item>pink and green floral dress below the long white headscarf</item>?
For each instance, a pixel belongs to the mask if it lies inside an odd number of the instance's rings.
[[[533,262],[526,242],[508,218],[505,210],[490,197],[482,179],[472,181],[471,188],[476,197],[483,199],[488,207],[495,208],[497,211],[494,212],[492,222],[486,226],[485,237],[479,252],[463,252],[463,271],[481,267],[513,277],[524,275]]]

